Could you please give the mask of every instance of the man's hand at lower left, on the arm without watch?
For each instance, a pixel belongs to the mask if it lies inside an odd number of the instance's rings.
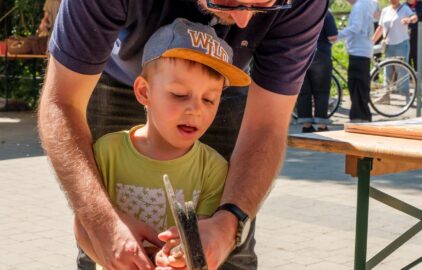
[[[107,231],[98,230],[95,235],[90,235],[99,263],[106,269],[154,269],[143,241],[161,247],[163,243],[158,239],[157,232],[122,212],[118,213],[118,217],[120,219],[116,218],[112,223],[114,226],[101,226],[108,227]]]

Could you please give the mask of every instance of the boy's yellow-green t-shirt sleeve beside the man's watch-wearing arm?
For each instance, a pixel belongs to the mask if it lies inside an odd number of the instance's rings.
[[[221,156],[209,160],[209,164],[196,213],[198,216],[211,216],[220,205],[228,164]]]

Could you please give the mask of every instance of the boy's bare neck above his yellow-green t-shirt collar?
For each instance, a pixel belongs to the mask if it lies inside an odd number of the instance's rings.
[[[172,160],[179,158],[192,149],[175,148],[165,142],[160,136],[157,136],[148,129],[148,126],[142,126],[130,132],[130,140],[135,149],[142,155],[155,160]]]

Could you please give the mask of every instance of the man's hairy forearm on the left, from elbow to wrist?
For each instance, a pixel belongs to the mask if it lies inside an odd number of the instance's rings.
[[[70,106],[46,101],[40,104],[42,145],[57,173],[63,191],[82,223],[100,223],[111,208],[95,164],[85,115]]]

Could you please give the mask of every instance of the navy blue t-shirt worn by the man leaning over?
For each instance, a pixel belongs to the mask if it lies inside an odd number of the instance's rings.
[[[289,10],[258,13],[246,28],[214,26],[233,48],[233,63],[270,91],[293,95],[316,48],[327,0],[293,0]],[[82,74],[103,70],[132,86],[143,47],[161,26],[178,17],[208,24],[197,0],[63,0],[49,44],[51,54]]]

